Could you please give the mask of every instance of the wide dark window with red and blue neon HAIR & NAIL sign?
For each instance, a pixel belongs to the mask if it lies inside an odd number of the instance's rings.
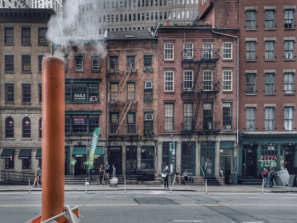
[[[93,114],[65,115],[65,134],[93,133],[99,127],[99,116]]]

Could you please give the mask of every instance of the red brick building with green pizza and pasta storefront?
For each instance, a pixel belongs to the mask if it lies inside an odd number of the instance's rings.
[[[238,174],[296,173],[296,1],[243,0],[238,15]]]

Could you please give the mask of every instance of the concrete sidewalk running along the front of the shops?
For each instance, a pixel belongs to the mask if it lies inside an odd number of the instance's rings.
[[[119,184],[118,187],[116,186],[109,186],[109,185],[98,185],[98,184],[90,184],[90,185],[65,185],[65,191],[127,191],[129,190],[148,190],[148,191],[155,191],[155,190],[162,190],[162,191],[170,191],[169,189],[165,189],[164,185],[124,185]],[[32,186],[0,186],[0,191],[41,191],[40,188],[32,188]],[[179,185],[175,184],[172,188],[173,191],[196,191],[201,193],[206,193],[206,186],[192,186],[191,184],[187,185]],[[226,186],[207,186],[208,193],[262,193],[262,186],[245,186],[245,185],[232,185],[227,184]],[[287,192],[297,192],[297,187],[287,187],[287,186],[273,186],[273,188],[264,187],[264,193],[274,192],[274,193],[287,193]]]

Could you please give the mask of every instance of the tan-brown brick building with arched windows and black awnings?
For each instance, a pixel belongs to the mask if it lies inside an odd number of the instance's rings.
[[[1,170],[34,173],[41,164],[41,61],[53,13],[0,10]]]

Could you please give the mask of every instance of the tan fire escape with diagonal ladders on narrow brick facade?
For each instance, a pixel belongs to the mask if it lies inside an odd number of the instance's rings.
[[[139,125],[135,122],[129,123],[127,113],[129,109],[139,101],[139,91],[129,88],[127,80],[131,75],[137,75],[138,60],[126,59],[119,60],[118,58],[111,58],[108,61],[108,75],[114,77],[114,80],[120,80],[117,87],[110,87],[108,93],[108,137],[121,139],[124,136],[138,136]],[[133,88],[133,87],[132,87]],[[110,111],[119,111],[117,121],[111,117]]]

